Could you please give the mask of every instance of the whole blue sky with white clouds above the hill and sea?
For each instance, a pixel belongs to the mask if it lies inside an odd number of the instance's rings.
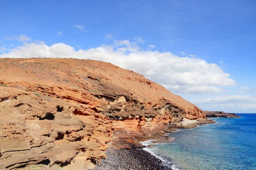
[[[112,62],[201,109],[255,113],[255,8],[249,0],[0,0],[0,57]]]

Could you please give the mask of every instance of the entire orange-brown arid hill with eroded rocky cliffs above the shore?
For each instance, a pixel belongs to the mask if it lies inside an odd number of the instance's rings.
[[[0,169],[91,169],[114,136],[203,118],[182,97],[111,63],[0,59]]]

